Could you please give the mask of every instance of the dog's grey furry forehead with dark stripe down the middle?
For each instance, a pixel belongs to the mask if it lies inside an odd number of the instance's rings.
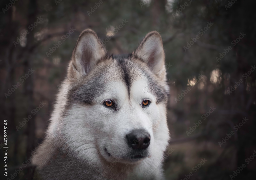
[[[74,100],[92,104],[95,98],[104,93],[106,87],[113,85],[113,82],[122,82],[130,97],[131,87],[137,80],[145,82],[152,94],[156,96],[157,102],[165,99],[165,89],[158,85],[157,79],[152,76],[146,65],[141,63],[139,59],[131,59],[129,55],[112,56],[99,63],[72,90],[72,97]]]

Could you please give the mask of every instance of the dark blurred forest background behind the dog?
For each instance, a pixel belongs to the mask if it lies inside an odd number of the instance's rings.
[[[9,178],[23,167],[15,179],[33,179],[34,167],[23,164],[44,137],[72,50],[86,28],[97,32],[110,54],[132,52],[150,31],[161,34],[170,85],[169,148],[174,150],[164,162],[166,179],[186,179],[190,172],[189,179],[255,178],[256,158],[245,162],[256,150],[256,71],[248,72],[256,65],[255,1],[8,0],[1,1],[0,7],[0,148],[4,155],[2,130],[7,119]],[[123,20],[128,22],[121,27]],[[65,38],[68,32],[72,33]],[[199,39],[190,42],[196,35]],[[55,50],[58,41],[62,44]],[[228,46],[232,49],[225,55]],[[29,69],[34,72],[26,78]],[[243,82],[234,87],[240,79]],[[20,86],[9,95],[17,82]],[[182,94],[188,87],[191,90]],[[46,104],[31,114],[40,102]],[[216,110],[209,115],[210,107]],[[29,122],[17,129],[29,115]],[[243,118],[249,120],[242,124]],[[223,141],[232,130],[235,134]],[[220,147],[219,142],[225,143]],[[195,172],[204,158],[207,162]],[[243,163],[246,167],[230,177]]]

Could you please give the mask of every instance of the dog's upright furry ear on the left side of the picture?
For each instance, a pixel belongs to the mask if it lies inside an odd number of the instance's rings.
[[[91,30],[84,30],[78,37],[76,47],[69,63],[68,78],[77,79],[85,76],[97,64],[101,57],[106,55],[97,34]]]

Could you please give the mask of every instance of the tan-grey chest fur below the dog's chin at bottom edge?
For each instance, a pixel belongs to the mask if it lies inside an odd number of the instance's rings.
[[[161,173],[159,173],[161,172],[161,170],[159,171],[161,167],[156,166],[161,162],[155,162],[156,164],[148,162],[146,163],[148,167],[142,167],[142,164],[109,163],[101,160],[102,167],[99,167],[83,163],[65,152],[64,148],[56,150],[50,162],[41,170],[37,170],[37,174],[40,174],[39,179],[161,180]]]

